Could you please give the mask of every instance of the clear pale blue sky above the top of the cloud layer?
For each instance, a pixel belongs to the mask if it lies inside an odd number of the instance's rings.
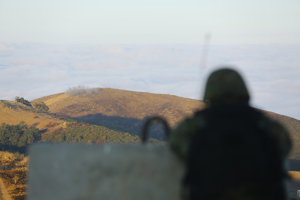
[[[0,41],[299,44],[299,0],[1,0]]]

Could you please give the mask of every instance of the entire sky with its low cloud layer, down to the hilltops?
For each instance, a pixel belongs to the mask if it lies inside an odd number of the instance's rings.
[[[78,85],[202,99],[211,71],[229,65],[252,106],[300,119],[299,8],[298,0],[1,0],[0,99]]]

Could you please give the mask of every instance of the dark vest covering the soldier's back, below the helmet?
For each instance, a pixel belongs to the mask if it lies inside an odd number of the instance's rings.
[[[280,145],[260,112],[234,103],[196,115],[203,120],[187,156],[189,199],[285,199]]]

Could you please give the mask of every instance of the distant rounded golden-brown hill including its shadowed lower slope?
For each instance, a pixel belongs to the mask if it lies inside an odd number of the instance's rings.
[[[49,106],[49,112],[135,134],[141,133],[144,121],[150,116],[160,115],[168,121],[170,127],[176,127],[182,119],[205,107],[204,101],[169,94],[113,88],[97,90],[93,94],[76,96],[53,94],[32,100],[32,103],[43,101]],[[300,160],[300,120],[274,112],[260,111],[286,127],[294,144],[290,158]],[[162,139],[161,134],[152,133],[151,136]]]

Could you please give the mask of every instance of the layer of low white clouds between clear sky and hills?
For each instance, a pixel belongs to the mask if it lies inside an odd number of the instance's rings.
[[[235,66],[251,105],[300,119],[300,45],[48,45],[0,42],[0,99],[117,88],[202,99],[211,71]],[[79,85],[79,86],[78,86]]]

